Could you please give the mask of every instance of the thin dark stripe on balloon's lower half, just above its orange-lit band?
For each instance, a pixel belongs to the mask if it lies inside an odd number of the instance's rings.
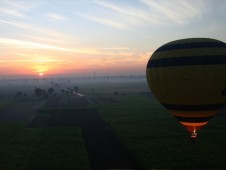
[[[224,107],[225,103],[221,104],[207,104],[207,105],[174,105],[162,103],[169,110],[176,111],[211,111],[218,110]]]

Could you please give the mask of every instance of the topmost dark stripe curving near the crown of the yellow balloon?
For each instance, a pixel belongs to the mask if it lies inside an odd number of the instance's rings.
[[[170,44],[170,45],[163,45],[159,47],[155,52],[191,49],[191,48],[214,48],[214,47],[226,48],[226,44],[223,42],[192,42],[192,43],[182,43],[182,44]]]

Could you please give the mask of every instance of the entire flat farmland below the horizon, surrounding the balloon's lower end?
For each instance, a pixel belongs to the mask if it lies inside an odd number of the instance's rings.
[[[56,83],[63,85],[55,86]],[[53,87],[56,95],[37,98],[32,82],[27,83],[27,91],[21,84],[22,89],[10,91],[9,88],[8,92],[2,93],[1,102],[7,99],[11,103],[2,104],[4,109],[0,109],[0,169],[101,167],[98,160],[95,163],[91,159],[92,148],[87,150],[88,144],[92,144],[87,141],[94,140],[90,138],[90,128],[94,130],[92,133],[98,132],[100,136],[116,136],[108,139],[119,139],[126,153],[136,162],[136,165],[130,165],[130,160],[127,165],[118,162],[117,166],[106,163],[107,168],[103,169],[126,169],[127,166],[138,169],[226,168],[225,111],[210,120],[193,143],[185,128],[151,95],[145,79],[45,80],[39,84],[38,87],[46,91]],[[78,87],[78,93],[62,92],[66,85],[71,89]],[[24,95],[26,100],[24,97],[15,100],[18,90],[27,93],[28,98]],[[32,105],[39,107],[29,111],[27,108]],[[21,114],[12,113],[10,106],[24,107],[27,113],[22,114],[21,109]],[[4,120],[1,115],[5,116],[7,112],[11,116]],[[18,115],[22,118],[17,120]],[[99,123],[92,124],[94,120]],[[99,143],[100,153],[104,148],[104,144],[100,144],[103,139],[100,137],[94,145]],[[105,144],[114,148],[117,142],[110,141]],[[121,148],[121,145],[117,146]],[[109,159],[114,159],[114,154]],[[123,159],[127,160],[126,156]]]

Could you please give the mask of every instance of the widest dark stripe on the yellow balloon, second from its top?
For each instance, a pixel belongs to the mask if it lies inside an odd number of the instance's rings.
[[[147,68],[226,64],[226,55],[169,57],[149,60]]]

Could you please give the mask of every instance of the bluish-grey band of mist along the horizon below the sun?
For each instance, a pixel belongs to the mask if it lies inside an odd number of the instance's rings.
[[[139,85],[142,85],[140,88]],[[128,88],[127,88],[128,85]],[[131,86],[131,87],[130,87]],[[103,77],[37,77],[37,78],[21,78],[10,77],[0,79],[0,94],[1,97],[15,98],[18,92],[21,92],[30,100],[35,100],[35,89],[41,88],[48,91],[49,88],[54,88],[54,94],[61,93],[61,90],[68,89],[72,92],[74,87],[79,91],[87,94],[91,91],[98,93],[111,94],[114,91],[123,92],[139,92],[148,90],[145,76],[103,76]]]

